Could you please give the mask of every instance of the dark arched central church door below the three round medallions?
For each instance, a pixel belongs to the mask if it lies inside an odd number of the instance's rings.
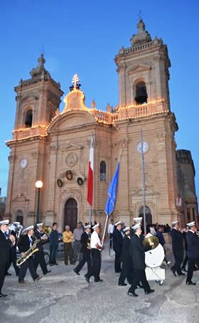
[[[72,231],[77,227],[77,201],[75,201],[75,198],[69,198],[68,201],[65,202],[63,225],[64,231],[65,226],[70,226]]]

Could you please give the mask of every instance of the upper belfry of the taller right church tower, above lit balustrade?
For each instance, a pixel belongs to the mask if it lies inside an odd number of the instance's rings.
[[[170,109],[168,80],[171,63],[167,46],[151,36],[142,19],[138,32],[131,37],[131,47],[122,47],[115,57],[119,74],[119,105],[143,104],[164,100]]]

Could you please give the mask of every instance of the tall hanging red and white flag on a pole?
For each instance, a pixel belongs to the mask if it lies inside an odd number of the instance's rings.
[[[87,176],[87,201],[92,206],[92,196],[93,196],[93,169],[94,169],[94,145],[93,136],[91,136],[90,143],[90,157],[88,164],[88,176]]]

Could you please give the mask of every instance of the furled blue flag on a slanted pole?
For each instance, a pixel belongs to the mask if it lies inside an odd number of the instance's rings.
[[[114,172],[114,176],[112,178],[112,181],[109,185],[108,189],[108,198],[107,203],[105,206],[104,212],[107,214],[107,216],[110,216],[112,212],[114,211],[114,205],[116,202],[116,194],[117,194],[117,184],[119,179],[119,162],[117,164],[117,169]]]

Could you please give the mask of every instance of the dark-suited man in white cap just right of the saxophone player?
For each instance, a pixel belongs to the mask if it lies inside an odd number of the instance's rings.
[[[35,270],[38,268],[38,264],[41,266],[41,270],[43,271],[43,275],[48,274],[51,270],[48,270],[47,265],[45,263],[45,255],[43,251],[43,242],[45,243],[45,239],[43,238],[45,233],[43,233],[43,223],[36,223],[36,228],[34,231],[34,236],[39,240],[37,244],[38,252],[34,255],[34,266]]]

